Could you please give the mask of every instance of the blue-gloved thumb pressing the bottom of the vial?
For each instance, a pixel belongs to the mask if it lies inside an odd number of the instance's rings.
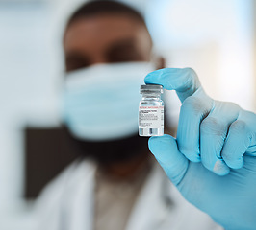
[[[187,172],[189,160],[179,152],[176,140],[170,135],[154,136],[149,139],[148,147],[168,178],[177,186]]]

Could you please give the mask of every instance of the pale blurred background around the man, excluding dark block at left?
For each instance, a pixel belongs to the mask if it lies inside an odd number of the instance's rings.
[[[0,229],[33,225],[29,211],[37,193],[29,192],[26,128],[60,123],[62,31],[81,2],[0,0]],[[256,111],[255,1],[122,2],[144,14],[154,52],[167,67],[192,67],[211,97]],[[175,126],[180,104],[172,92],[167,98]]]

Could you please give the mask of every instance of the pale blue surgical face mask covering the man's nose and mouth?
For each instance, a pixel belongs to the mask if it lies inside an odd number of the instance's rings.
[[[82,140],[107,141],[138,131],[140,85],[150,62],[96,64],[67,74],[63,120]]]

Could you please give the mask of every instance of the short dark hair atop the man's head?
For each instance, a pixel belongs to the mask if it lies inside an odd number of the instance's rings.
[[[69,17],[66,28],[77,19],[102,14],[124,14],[131,16],[141,22],[145,27],[146,23],[140,12],[119,2],[110,0],[96,0],[84,3]]]

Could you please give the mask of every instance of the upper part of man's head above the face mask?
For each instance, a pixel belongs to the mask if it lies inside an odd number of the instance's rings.
[[[141,14],[118,2],[86,3],[66,24],[67,72],[97,63],[150,61],[151,50],[152,40]]]

